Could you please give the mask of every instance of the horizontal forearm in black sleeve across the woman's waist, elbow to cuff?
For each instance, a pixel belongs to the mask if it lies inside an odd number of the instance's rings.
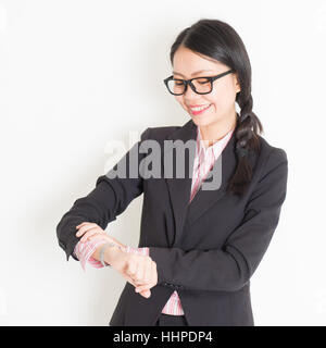
[[[225,251],[150,247],[150,252],[158,265],[158,284],[175,289],[235,291],[250,277],[247,260],[230,247]]]

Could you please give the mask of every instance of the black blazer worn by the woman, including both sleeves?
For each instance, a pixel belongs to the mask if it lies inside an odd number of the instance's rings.
[[[190,120],[184,126],[147,128],[133,149],[145,139],[155,139],[164,151],[164,139],[195,140],[196,127]],[[77,224],[89,221],[104,229],[143,194],[138,247],[150,248],[158,284],[147,299],[126,282],[111,326],[154,325],[174,290],[191,326],[254,325],[250,277],[278,224],[286,198],[288,161],[283,149],[260,137],[260,153],[249,158],[253,177],[248,191],[242,197],[229,195],[226,183],[236,169],[235,140],[234,132],[222,152],[221,187],[199,190],[190,204],[191,175],[187,167],[193,157],[186,151],[186,178],[102,175],[96,188],[77,199],[62,216],[57,226],[59,245],[67,260],[70,256],[76,259],[73,250],[80,239],[75,236]],[[127,167],[130,151],[121,160],[127,160]],[[139,153],[139,162],[146,156]],[[161,161],[164,169],[163,153]]]

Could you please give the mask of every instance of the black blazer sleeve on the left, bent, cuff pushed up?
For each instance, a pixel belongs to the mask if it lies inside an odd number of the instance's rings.
[[[62,216],[57,225],[57,237],[59,246],[65,251],[66,260],[72,256],[78,261],[74,254],[74,248],[80,240],[76,237],[76,226],[82,222],[93,222],[106,228],[108,224],[120,215],[128,207],[130,201],[140,196],[143,191],[143,178],[141,175],[129,177],[129,157],[131,151],[138,151],[141,141],[149,138],[150,128],[147,128],[140,136],[133,148],[113,166],[116,171],[118,165],[126,165],[125,177],[101,175],[96,182],[96,187],[86,197],[75,200],[73,207]],[[138,169],[139,163],[146,157],[146,153],[138,151]],[[135,163],[133,160],[130,163]],[[139,172],[138,172],[139,173]],[[109,174],[109,173],[108,173]]]

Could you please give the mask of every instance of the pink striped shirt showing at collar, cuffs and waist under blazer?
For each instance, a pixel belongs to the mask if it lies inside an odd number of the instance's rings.
[[[209,171],[212,169],[215,160],[221,156],[223,149],[226,147],[228,140],[233,135],[234,129],[229,130],[222,139],[217,140],[215,144],[205,148],[205,140],[202,139],[200,127],[197,126],[197,147],[196,147],[196,156],[193,161],[192,169],[192,182],[191,182],[191,194],[190,201],[193,199],[195,195],[198,192],[200,188],[201,182],[204,179]],[[101,244],[106,243],[105,240],[90,240],[87,243],[80,243],[75,247],[75,254],[80,260],[82,266],[85,270],[85,264],[88,261],[95,268],[102,268],[100,261],[95,260],[90,256]],[[131,248],[127,246],[127,252],[141,253],[141,254],[150,254],[150,248]],[[173,291],[164,308],[162,309],[162,313],[170,315],[183,315],[184,310],[181,307],[181,302],[179,296],[176,290]]]

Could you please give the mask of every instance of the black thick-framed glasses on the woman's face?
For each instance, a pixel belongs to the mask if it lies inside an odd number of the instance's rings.
[[[234,70],[229,70],[225,73],[216,76],[202,76],[190,79],[173,78],[173,75],[163,79],[167,90],[174,96],[181,96],[187,91],[188,85],[198,95],[208,95],[213,90],[213,82],[227,74],[235,73]]]

